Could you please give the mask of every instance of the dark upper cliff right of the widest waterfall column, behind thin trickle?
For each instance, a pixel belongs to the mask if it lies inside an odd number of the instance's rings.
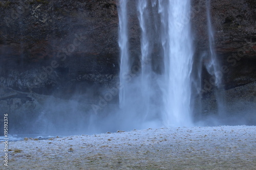
[[[193,1],[193,30],[197,49],[207,48],[206,12],[204,1]],[[226,89],[256,80],[256,3],[255,1],[211,1],[211,20],[215,30],[215,49],[223,71]],[[207,80],[207,78],[206,78]],[[207,80],[208,81],[208,80]]]

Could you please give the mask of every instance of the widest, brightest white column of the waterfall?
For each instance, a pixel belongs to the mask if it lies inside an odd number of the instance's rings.
[[[193,45],[189,22],[190,1],[159,1],[164,55],[164,125],[191,126],[190,73]]]

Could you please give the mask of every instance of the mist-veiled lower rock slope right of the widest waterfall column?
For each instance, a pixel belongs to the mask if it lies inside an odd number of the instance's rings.
[[[216,93],[207,93],[195,100],[194,120],[204,126],[255,125],[256,82]]]

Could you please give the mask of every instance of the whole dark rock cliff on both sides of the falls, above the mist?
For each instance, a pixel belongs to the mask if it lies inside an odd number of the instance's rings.
[[[130,2],[130,52],[139,57],[137,1]],[[197,59],[208,50],[206,5],[191,4]],[[86,87],[112,87],[119,72],[118,6],[100,0],[0,1],[0,85],[67,98],[90,91]],[[224,88],[255,82],[256,2],[211,0],[210,10]],[[209,82],[202,69],[202,83]]]

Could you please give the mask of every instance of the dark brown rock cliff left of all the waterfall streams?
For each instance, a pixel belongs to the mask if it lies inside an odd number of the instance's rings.
[[[0,8],[2,85],[50,94],[115,80],[115,1],[2,1]]]

